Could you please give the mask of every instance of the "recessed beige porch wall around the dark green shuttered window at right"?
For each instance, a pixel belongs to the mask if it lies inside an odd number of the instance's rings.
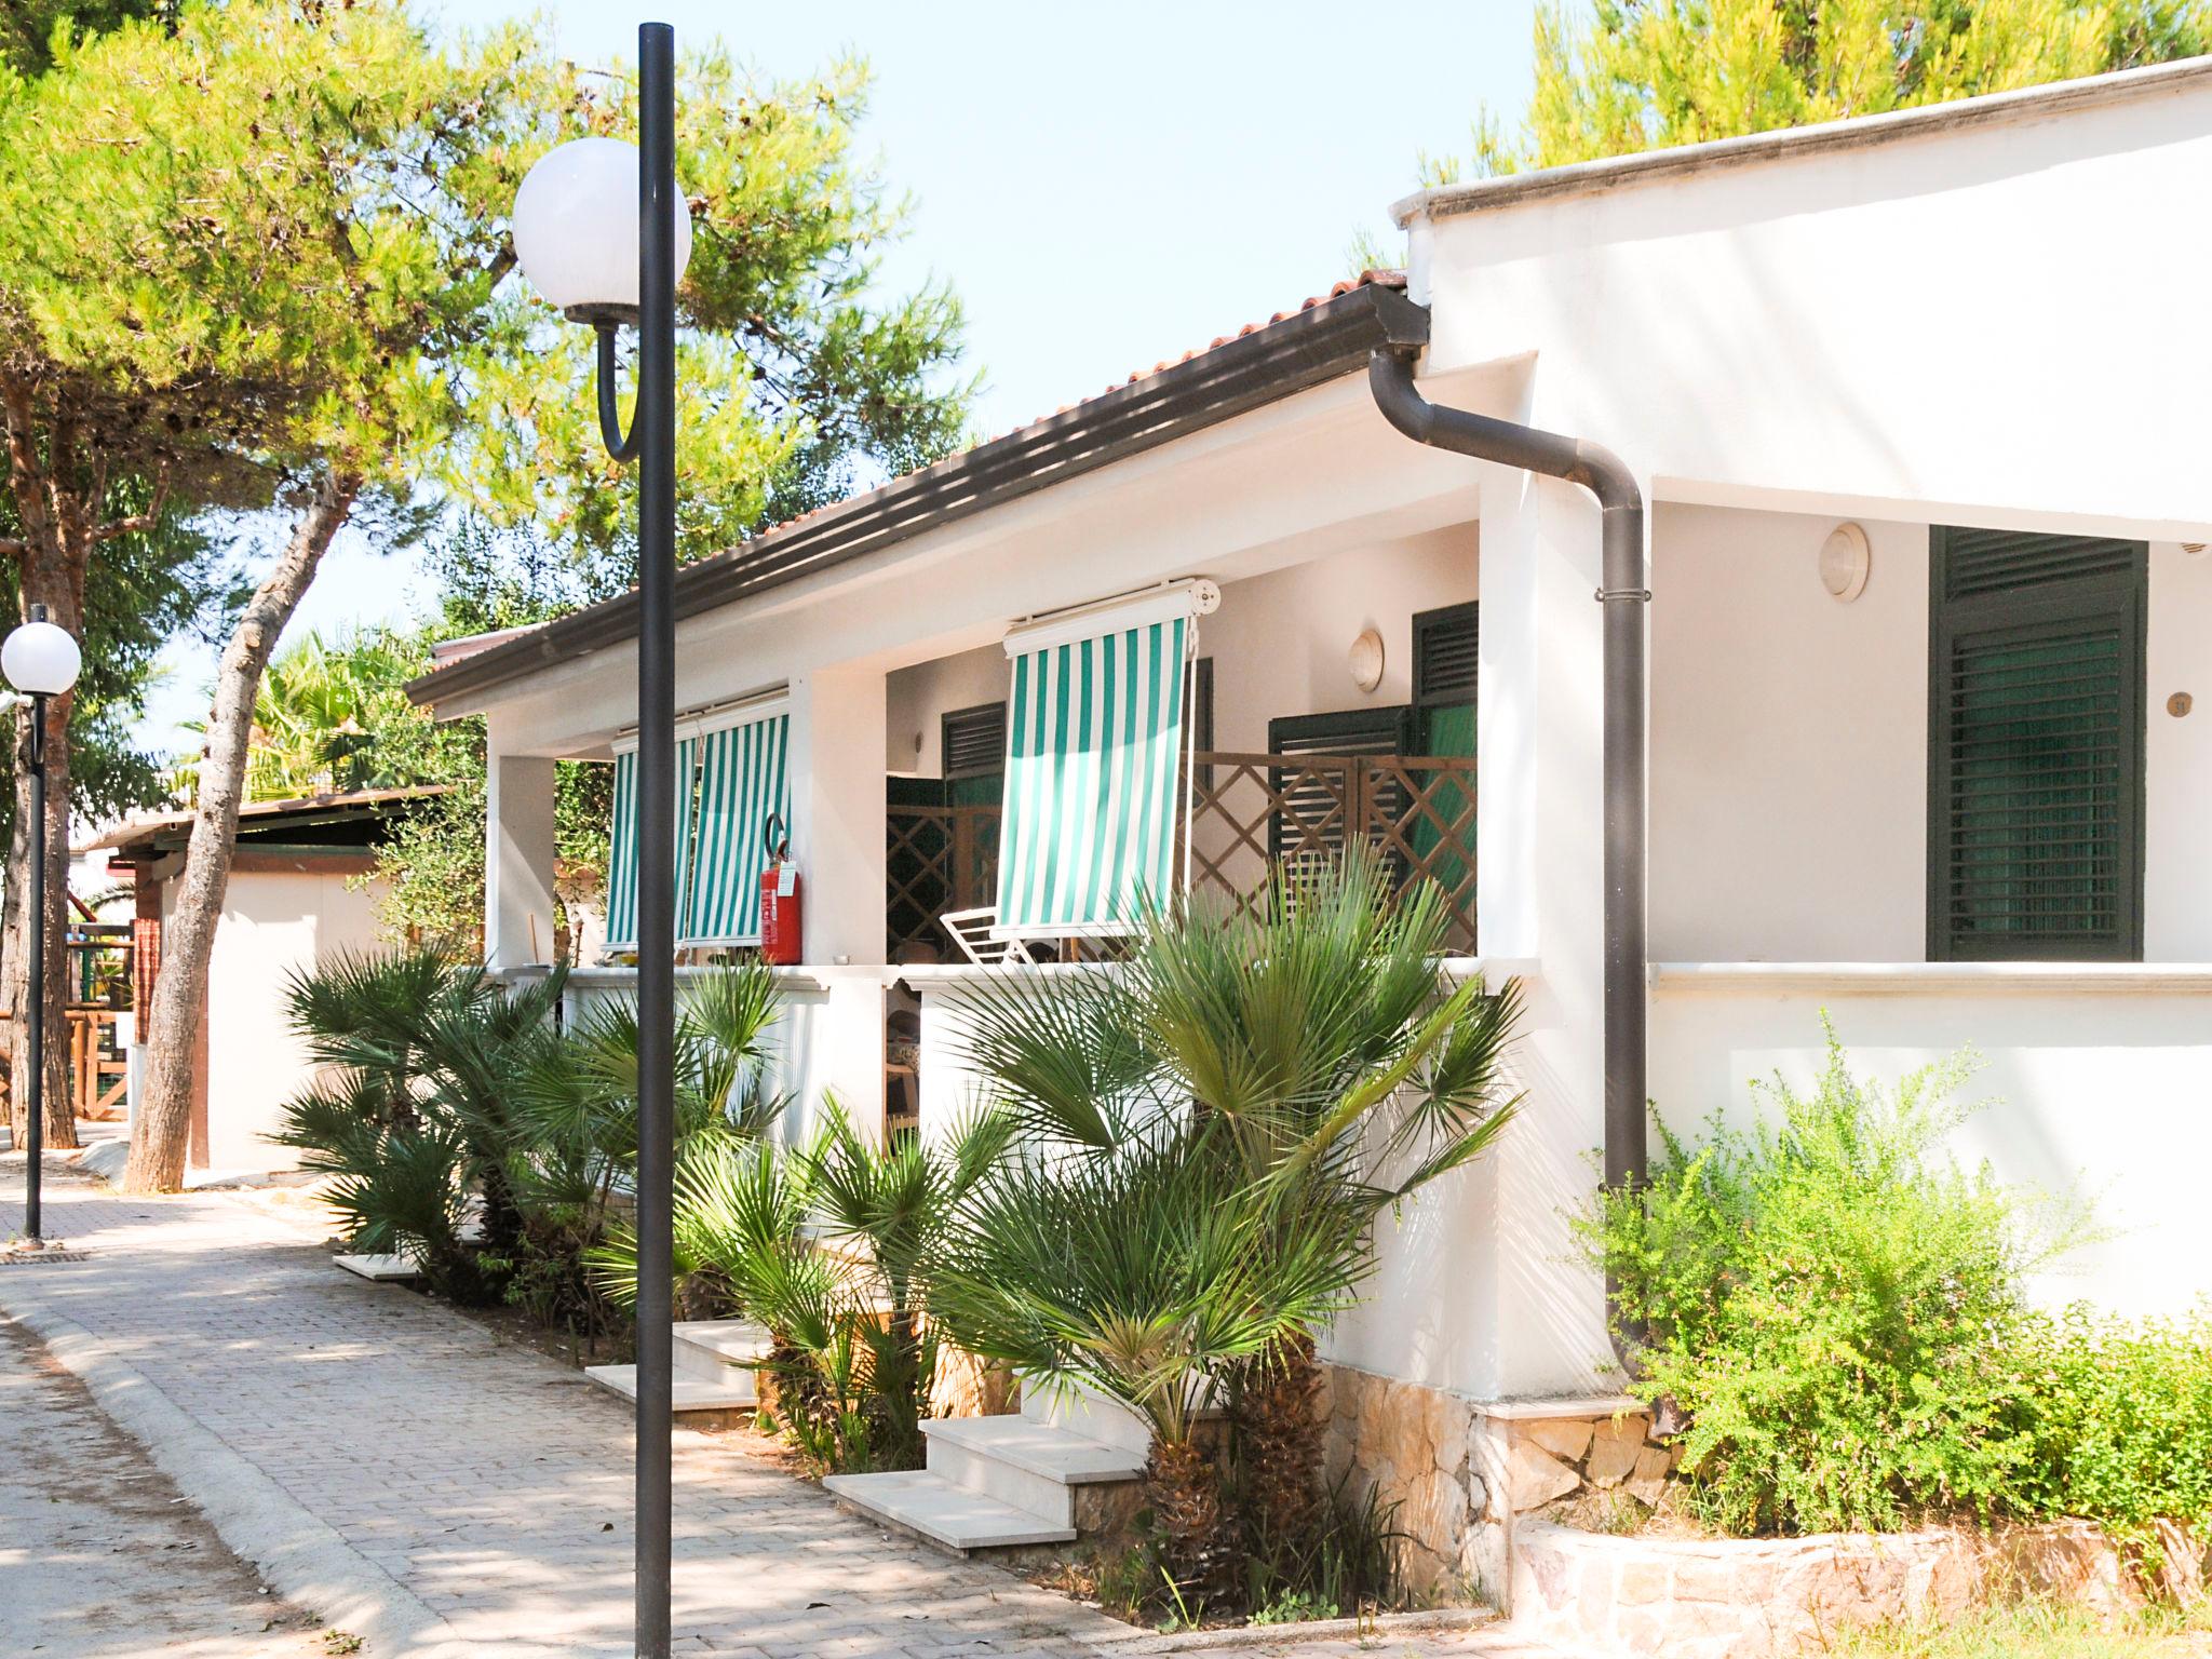
[[[1854,520],[1874,562],[1838,604],[1838,518],[1661,504],[1650,604],[1650,951],[1657,962],[1927,958],[1929,531]],[[2143,958],[2212,960],[2212,555],[2150,549]],[[2168,697],[2205,701],[2168,714]]]

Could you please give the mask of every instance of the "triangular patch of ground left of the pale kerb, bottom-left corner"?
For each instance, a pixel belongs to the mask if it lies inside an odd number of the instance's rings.
[[[46,1272],[0,1267],[0,1272]],[[261,1593],[69,1371],[0,1318],[0,1655],[296,1659],[343,1652]]]

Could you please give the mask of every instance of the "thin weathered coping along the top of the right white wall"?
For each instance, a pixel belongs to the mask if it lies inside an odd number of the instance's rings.
[[[1639,150],[1637,155],[1610,155],[1597,161],[1571,161],[1531,173],[1504,173],[1495,179],[1447,184],[1438,190],[1418,190],[1402,197],[1391,204],[1389,212],[1402,230],[1416,219],[1451,219],[1462,212],[1486,212],[1522,201],[1544,201],[1546,197],[1597,195],[1601,190],[1659,184],[1761,161],[1869,150],[1882,144],[1984,126],[2044,122],[2081,108],[2194,91],[2208,80],[2212,80],[2212,58],[2181,58],[2172,64],[2117,69],[2110,75],[2084,75],[2081,80],[2024,86],[2013,93],[1984,93],[1982,97],[1960,97],[1949,104],[1922,104],[1920,108],[1885,111],[1882,115],[1854,115],[1843,122],[1785,126],[1772,133],[1747,133],[1705,144],[1677,144],[1666,150]]]

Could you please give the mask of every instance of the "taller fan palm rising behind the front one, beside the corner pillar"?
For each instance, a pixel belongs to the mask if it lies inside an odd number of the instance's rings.
[[[1055,1148],[1033,1197],[1051,1197],[1048,1179],[1097,1179],[1093,1197],[1113,1201],[1119,1159],[1179,1152],[1252,1192],[1241,1225],[1261,1256],[1296,1261],[1303,1239],[1365,1237],[1383,1210],[1478,1159],[1513,1115],[1502,1053],[1517,989],[1453,984],[1440,894],[1391,887],[1354,849],[1279,869],[1250,907],[1146,905],[1113,971],[975,989],[969,1062],[1024,1137]],[[1086,1159],[1102,1168],[1077,1175]],[[1243,1526],[1263,1566],[1312,1555],[1323,1524],[1314,1334],[1371,1272],[1365,1250],[1325,1256],[1338,1296],[1285,1296],[1298,1312],[1221,1360]],[[1106,1387],[1146,1409],[1126,1383]]]

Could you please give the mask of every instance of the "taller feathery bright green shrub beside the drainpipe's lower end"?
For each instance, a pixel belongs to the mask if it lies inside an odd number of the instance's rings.
[[[1641,1332],[1632,1391],[1688,1416],[1694,1513],[1728,1533],[1891,1528],[2015,1506],[2037,1455],[2024,1201],[1942,1139],[1969,1062],[1896,1093],[1834,1031],[1809,1095],[1759,1088],[1756,1126],[1701,1146],[1661,1124],[1650,1188],[1608,1192],[1590,1241]]]

